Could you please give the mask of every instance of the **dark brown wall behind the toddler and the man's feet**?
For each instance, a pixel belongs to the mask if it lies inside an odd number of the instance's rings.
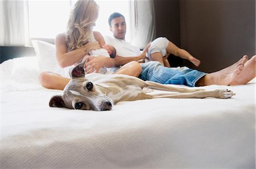
[[[255,54],[255,0],[154,0],[156,36],[166,36],[212,72]],[[180,64],[180,62],[178,63]]]

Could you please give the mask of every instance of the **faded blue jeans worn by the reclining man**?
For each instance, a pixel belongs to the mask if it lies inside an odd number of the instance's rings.
[[[140,79],[162,84],[184,84],[194,87],[196,82],[207,74],[187,67],[187,69],[164,67],[157,61],[146,62],[141,66]]]

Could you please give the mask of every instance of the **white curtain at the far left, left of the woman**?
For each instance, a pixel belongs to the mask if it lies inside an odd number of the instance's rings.
[[[28,45],[27,1],[0,1],[0,45]]]

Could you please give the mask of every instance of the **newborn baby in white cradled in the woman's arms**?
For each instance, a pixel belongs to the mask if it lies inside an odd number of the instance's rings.
[[[106,56],[106,57],[111,57],[114,58],[115,55],[117,54],[117,50],[115,50],[115,48],[112,45],[103,45],[101,46],[100,49],[96,49],[96,50],[90,50],[89,52],[90,56]],[[105,74],[108,72],[108,69],[104,66],[102,67],[98,73],[100,74]]]

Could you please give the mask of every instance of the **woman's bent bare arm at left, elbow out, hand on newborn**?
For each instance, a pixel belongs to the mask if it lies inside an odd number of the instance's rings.
[[[88,43],[79,49],[72,50],[68,52],[67,43],[64,34],[59,34],[55,39],[56,46],[56,58],[60,67],[67,67],[76,62],[79,62],[90,50],[100,48],[98,42]]]

